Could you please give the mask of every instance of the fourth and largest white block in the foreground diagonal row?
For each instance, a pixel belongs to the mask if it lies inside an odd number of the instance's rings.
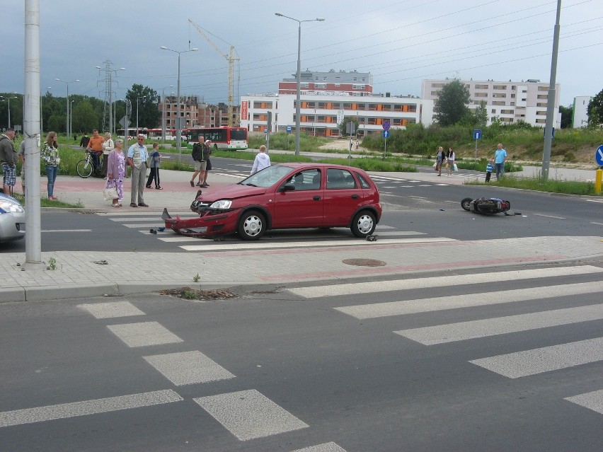
[[[255,389],[193,400],[241,441],[309,427]]]

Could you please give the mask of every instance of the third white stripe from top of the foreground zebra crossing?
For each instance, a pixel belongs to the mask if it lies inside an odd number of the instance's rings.
[[[435,345],[601,319],[603,304],[595,304],[394,332],[420,344]]]

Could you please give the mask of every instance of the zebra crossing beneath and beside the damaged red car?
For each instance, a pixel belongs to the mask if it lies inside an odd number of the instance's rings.
[[[173,211],[172,216],[176,214],[182,218],[196,218],[193,212]],[[318,234],[316,231],[268,231],[266,235],[257,242],[245,242],[238,239],[231,241],[214,242],[200,238],[180,236],[169,229],[163,231],[158,228],[164,226],[159,212],[102,212],[97,215],[103,216],[110,221],[115,221],[122,226],[138,230],[147,236],[151,236],[163,243],[173,243],[183,251],[210,252],[210,251],[235,251],[235,250],[255,250],[279,249],[279,248],[327,248],[327,247],[345,247],[345,246],[370,246],[372,243],[352,238],[348,228],[334,228],[328,234]],[[154,230],[151,233],[151,229]],[[381,245],[400,244],[400,243],[437,243],[456,241],[447,237],[430,237],[419,231],[398,231],[393,226],[377,225],[375,235],[379,236]]]

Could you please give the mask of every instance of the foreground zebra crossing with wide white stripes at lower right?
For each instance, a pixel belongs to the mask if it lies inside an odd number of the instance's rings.
[[[391,324],[395,316],[412,314],[437,314],[439,311],[455,310],[466,312],[467,320],[454,323],[441,323],[419,328],[406,328],[392,331],[394,335],[411,340],[425,347],[437,347],[442,344],[456,344],[464,347],[463,341],[486,340],[496,337],[498,342],[515,344],[513,335],[532,332],[542,328],[562,328],[567,325],[584,325],[603,319],[603,303],[591,303],[586,306],[559,308],[560,297],[573,301],[576,296],[584,295],[600,299],[603,293],[601,284],[603,268],[592,265],[571,267],[542,268],[490,272],[481,274],[455,275],[450,277],[425,277],[417,279],[397,279],[386,282],[365,282],[357,284],[332,284],[328,286],[306,286],[287,289],[289,293],[302,299],[329,299],[341,297],[349,299],[352,294],[374,294],[391,292],[396,301],[348,304],[335,306],[334,311],[352,316],[359,320],[389,319]],[[582,282],[570,282],[579,277]],[[589,279],[584,281],[583,279]],[[506,289],[475,293],[476,282],[497,280],[501,282],[530,281],[533,285],[524,289]],[[525,285],[525,284],[524,284]],[[406,292],[427,287],[456,286],[463,294],[438,296],[435,298],[415,299],[406,296]],[[484,291],[486,293],[484,293]],[[599,299],[597,301],[599,301]],[[495,316],[471,320],[471,312],[463,311],[478,306],[517,306],[540,300],[540,310],[531,313]],[[553,306],[547,308],[547,303]],[[573,303],[570,303],[573,305]],[[498,309],[500,311],[500,308]],[[456,315],[458,317],[459,315]],[[462,315],[461,315],[462,316]],[[437,317],[441,319],[442,317]],[[401,318],[402,319],[402,318]],[[401,320],[402,321],[402,320]],[[555,337],[554,330],[551,337]],[[585,340],[558,343],[534,349],[519,349],[500,355],[476,356],[468,362],[481,369],[497,373],[505,378],[530,378],[547,373],[555,378],[555,372],[563,369],[603,362],[603,337],[589,337]],[[560,376],[559,378],[563,378]],[[564,400],[603,414],[603,380],[599,379],[599,388],[588,393],[568,393]]]

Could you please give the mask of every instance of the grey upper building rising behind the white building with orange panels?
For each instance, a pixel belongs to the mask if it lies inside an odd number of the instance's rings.
[[[293,79],[283,79],[278,83],[279,94],[297,93],[297,74]],[[328,72],[301,71],[299,73],[300,91],[306,94],[372,95],[373,76],[369,72],[339,71]]]

